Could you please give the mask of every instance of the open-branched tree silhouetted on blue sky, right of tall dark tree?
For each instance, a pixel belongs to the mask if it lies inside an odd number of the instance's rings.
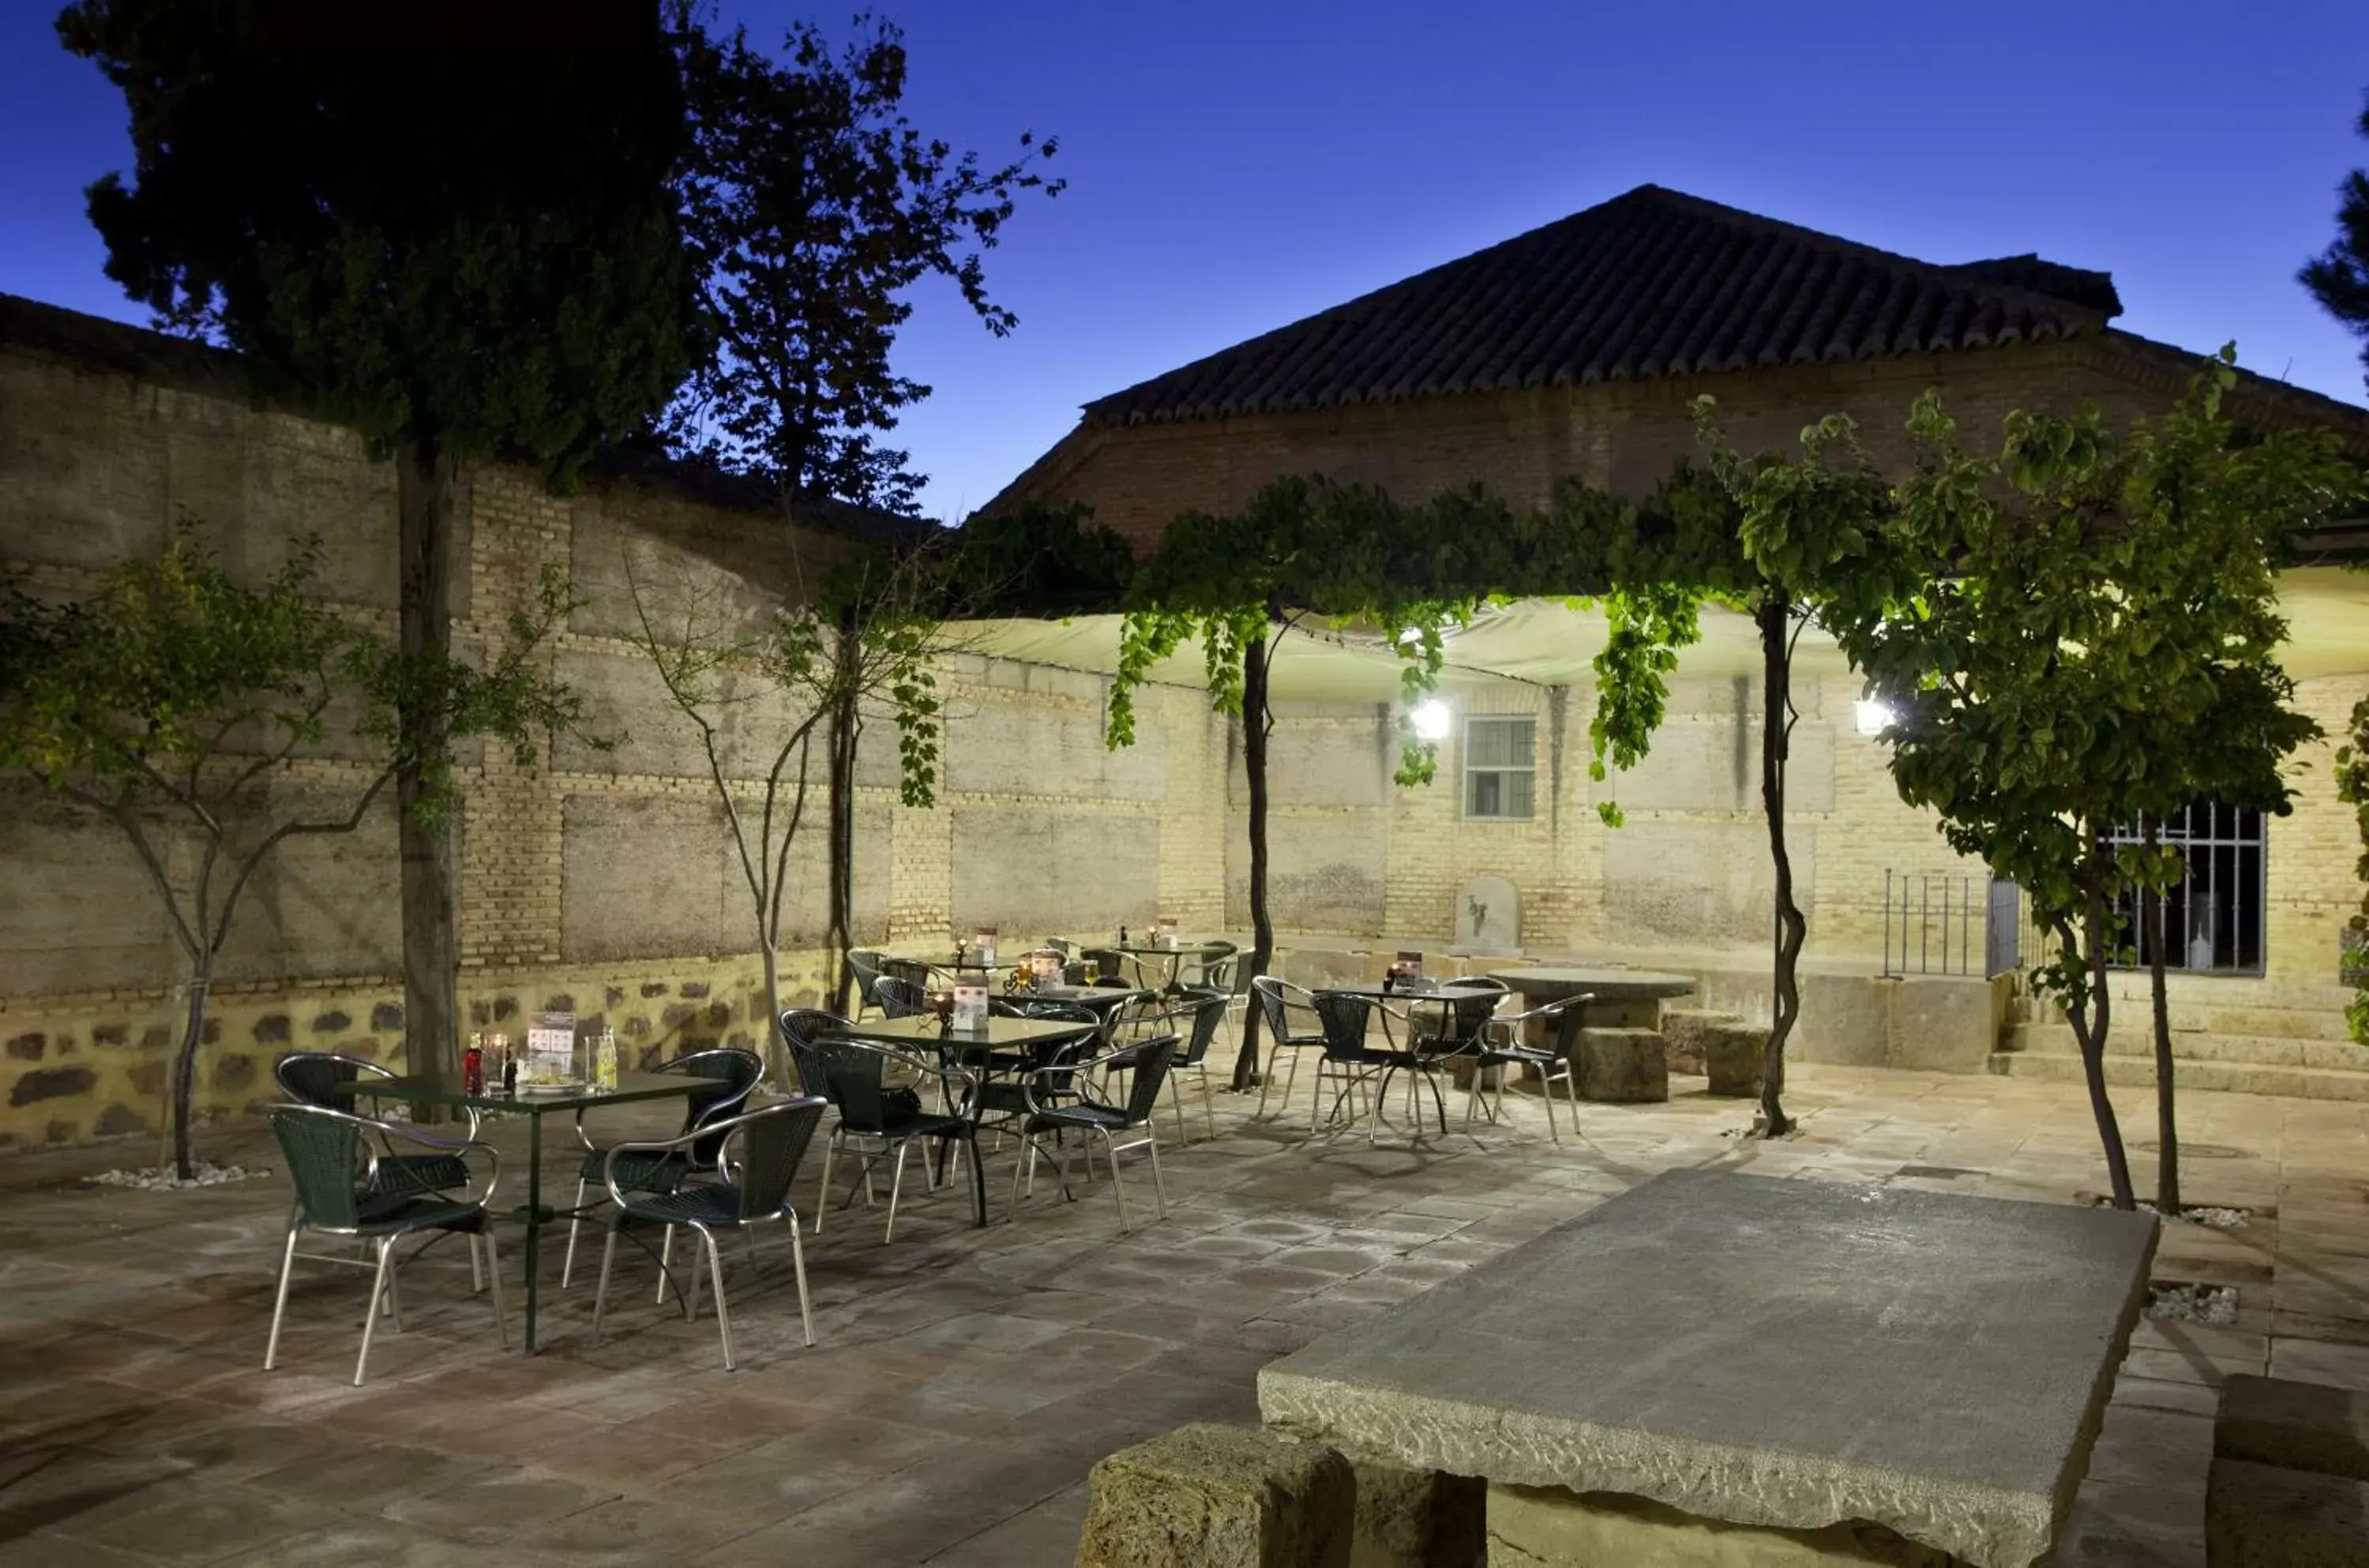
[[[888,365],[910,289],[945,277],[988,332],[1019,324],[988,298],[983,251],[1019,192],[1061,192],[1040,171],[1054,140],[1023,133],[1019,159],[981,168],[924,137],[888,21],[858,17],[836,54],[796,24],[775,59],[746,28],[711,38],[687,0],[670,14],[694,121],[678,189],[711,341],[668,436],[784,495],[914,512],[924,476],[874,441],[931,391]]]

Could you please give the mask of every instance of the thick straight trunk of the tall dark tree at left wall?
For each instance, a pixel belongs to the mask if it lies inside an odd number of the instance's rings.
[[[452,493],[460,457],[436,441],[396,450],[400,651],[410,675],[396,715],[400,763],[396,810],[403,850],[403,1063],[412,1073],[448,1073],[460,1061],[460,943],[452,910],[452,815],[429,824],[419,805],[445,760],[441,677],[422,680],[452,654]],[[441,675],[441,670],[438,670]]]

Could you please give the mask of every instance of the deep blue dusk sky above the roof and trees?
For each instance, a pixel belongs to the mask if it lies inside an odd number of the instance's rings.
[[[723,0],[772,38],[805,9]],[[2369,163],[2362,0],[1625,5],[903,0],[914,121],[995,159],[1059,135],[1068,192],[988,258],[1021,327],[924,287],[893,441],[957,519],[1078,405],[1654,182],[1926,261],[2113,272],[2120,327],[2350,403],[2360,346],[2296,284]],[[123,104],[0,0],[0,291],[142,320],[81,189]]]

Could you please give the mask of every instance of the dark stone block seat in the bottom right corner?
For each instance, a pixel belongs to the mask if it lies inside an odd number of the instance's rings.
[[[2222,1383],[2206,1563],[2369,1563],[2369,1393],[2246,1374]]]

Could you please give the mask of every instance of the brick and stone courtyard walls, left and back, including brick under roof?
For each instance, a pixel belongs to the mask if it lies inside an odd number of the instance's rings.
[[[2004,412],[2033,386],[2068,384],[2078,369],[2068,355],[2004,355],[1995,386],[1952,393],[1952,403],[1969,422],[1980,407]],[[1784,372],[1770,379],[1767,407],[1727,396],[1739,438],[1753,441],[1753,422],[1772,433],[1798,422],[1786,398],[1815,410],[1853,386],[1881,424],[1928,369]],[[1483,410],[1478,424],[1471,410],[1383,410],[1355,438],[1336,433],[1338,462],[1357,478],[1419,493],[1488,471],[1488,455],[1514,441],[1535,448],[1528,467],[1504,471],[1516,490],[1564,471],[1649,476],[1691,441],[1682,393],[1540,393],[1514,400],[1530,410],[1514,410],[1521,419]],[[1147,433],[1144,452],[1175,455],[1177,467],[1170,474],[1147,457],[1125,469],[1123,495],[1099,497],[1106,514],[1125,521],[1137,507],[1142,519],[1166,519],[1180,505],[1227,505],[1256,488],[1263,464],[1305,450],[1260,436],[1267,445],[1237,448],[1213,469],[1211,455],[1230,438],[1227,426]],[[1118,438],[1097,450],[1094,462],[1113,462]],[[1121,469],[1106,476],[1118,483]],[[40,590],[78,592],[109,561],[156,550],[180,516],[206,523],[223,557],[256,573],[282,559],[291,533],[320,531],[332,542],[327,595],[393,630],[393,478],[348,431],[0,343],[0,561]],[[495,751],[462,758],[460,936],[471,1023],[505,1028],[524,1011],[573,1009],[644,1052],[763,1037],[749,895],[696,732],[628,642],[633,587],[699,595],[730,621],[820,578],[846,545],[640,483],[554,497],[533,474],[493,464],[464,474],[460,526],[462,647],[483,647],[545,568],[585,599],[547,656],[585,694],[588,737],[561,737],[533,767]],[[1158,914],[1201,931],[1246,926],[1241,734],[1208,711],[1203,692],[1147,689],[1137,746],[1111,753],[1102,746],[1104,677],[950,654],[940,682],[945,772],[933,808],[898,801],[886,720],[865,732],[860,940],[929,952],[978,924],[1023,943]],[[2331,725],[2360,685],[2305,682],[2305,703]],[[1272,846],[1286,933],[1438,947],[1452,936],[1457,886],[1502,874],[1521,891],[1530,950],[1644,962],[1680,952],[1748,962],[1765,950],[1755,675],[1684,666],[1651,758],[1604,784],[1587,779],[1585,687],[1459,680],[1447,694],[1459,715],[1537,720],[1533,820],[1464,817],[1462,732],[1443,746],[1438,784],[1410,791],[1391,782],[1388,706],[1284,703]],[[1874,969],[1883,872],[1957,862],[1931,820],[1900,805],[1881,748],[1853,732],[1853,696],[1841,673],[1800,682],[1793,855],[1812,957]],[[723,758],[737,798],[753,798],[768,737],[784,718],[768,701],[734,708]],[[332,751],[289,789],[351,798],[358,777],[358,760]],[[2324,798],[2326,756],[2315,753],[2303,779],[2298,812],[2272,827],[2270,978],[2229,981],[2224,995],[2274,1000],[2281,983],[2319,981],[2333,966],[2333,926],[2355,898],[2350,820]],[[1606,796],[1620,801],[1628,827],[1599,822]],[[784,910],[782,976],[794,1002],[824,983],[822,815],[817,770]],[[291,843],[261,879],[216,983],[199,1073],[208,1113],[270,1099],[280,1049],[400,1054],[393,827],[381,810],[353,836]],[[180,955],[154,893],[109,829],[21,782],[0,782],[0,1146],[154,1135],[185,1004]]]

